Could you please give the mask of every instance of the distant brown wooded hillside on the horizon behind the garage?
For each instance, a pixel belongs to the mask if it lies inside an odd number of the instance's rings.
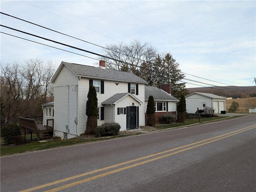
[[[188,92],[212,93],[214,95],[232,98],[250,98],[256,97],[256,86],[196,87],[188,88]]]

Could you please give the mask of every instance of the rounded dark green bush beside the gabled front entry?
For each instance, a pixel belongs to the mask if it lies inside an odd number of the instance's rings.
[[[95,137],[118,135],[120,128],[118,123],[104,123],[95,128],[94,135]]]

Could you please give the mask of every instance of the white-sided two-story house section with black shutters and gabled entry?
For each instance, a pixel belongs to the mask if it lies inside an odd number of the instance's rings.
[[[86,101],[89,85],[98,98],[98,125],[116,122],[120,131],[145,125],[145,83],[125,71],[62,62],[54,77],[54,135],[72,138],[86,129]]]

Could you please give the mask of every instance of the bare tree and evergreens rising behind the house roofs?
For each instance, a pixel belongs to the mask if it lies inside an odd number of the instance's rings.
[[[180,99],[188,95],[185,83],[181,82],[185,75],[181,72],[180,63],[170,53],[158,53],[149,43],[132,40],[130,44],[109,44],[102,48],[99,59],[106,61],[106,67],[121,71],[131,71],[147,85],[160,87],[161,84],[171,83],[172,96]]]

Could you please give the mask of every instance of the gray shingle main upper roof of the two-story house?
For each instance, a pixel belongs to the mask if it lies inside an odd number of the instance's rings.
[[[73,73],[75,73],[77,76],[81,77],[96,77],[99,79],[147,83],[147,81],[131,72],[116,71],[113,69],[102,69],[100,67],[68,63],[64,61],[62,61],[62,63],[66,65],[71,71],[73,71]]]

